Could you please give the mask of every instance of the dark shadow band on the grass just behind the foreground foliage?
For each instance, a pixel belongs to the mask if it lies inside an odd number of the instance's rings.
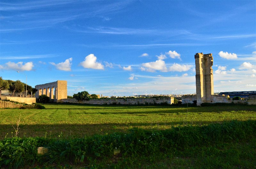
[[[20,125],[18,136],[47,136],[47,137],[84,137],[94,134],[109,134],[113,132],[128,132],[133,127],[142,129],[163,130],[177,126],[186,125],[208,125],[212,123],[222,123],[223,121],[175,121],[175,122],[153,122],[153,123],[104,123],[104,124],[36,124]],[[227,122],[227,121],[225,121]],[[16,127],[15,125],[13,125]],[[0,139],[13,137],[15,130],[12,125],[0,125]]]

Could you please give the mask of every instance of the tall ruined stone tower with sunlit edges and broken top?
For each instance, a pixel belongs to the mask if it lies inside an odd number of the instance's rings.
[[[196,53],[196,104],[211,103],[213,93],[212,54]]]

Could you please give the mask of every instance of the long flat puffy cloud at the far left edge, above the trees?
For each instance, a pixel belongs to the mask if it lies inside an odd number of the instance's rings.
[[[0,65],[1,69],[6,70],[19,70],[19,71],[30,71],[34,67],[33,62],[7,62],[5,63],[5,66]]]

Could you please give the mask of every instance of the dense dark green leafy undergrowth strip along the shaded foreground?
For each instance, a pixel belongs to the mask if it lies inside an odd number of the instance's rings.
[[[114,151],[120,150],[119,160],[121,161],[117,162],[116,167],[113,168],[123,168],[120,165],[127,163],[132,165],[132,161],[139,158],[147,158],[150,162],[155,160],[158,154],[188,153],[190,152],[187,151],[188,149],[194,152],[216,151],[221,153],[216,149],[209,150],[204,147],[251,139],[255,137],[255,134],[256,121],[249,120],[216,123],[202,127],[190,125],[168,130],[152,131],[134,128],[128,133],[94,135],[84,138],[5,138],[0,141],[0,167],[21,168],[24,164],[32,166],[35,162],[94,165],[97,161],[113,158]],[[195,151],[193,148],[198,146],[202,149]],[[37,147],[47,147],[49,151],[38,156]]]

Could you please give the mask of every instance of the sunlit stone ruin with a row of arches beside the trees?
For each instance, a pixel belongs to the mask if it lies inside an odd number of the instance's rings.
[[[56,82],[36,85],[35,88],[37,89],[35,94],[37,99],[43,94],[50,97],[50,99],[53,99],[54,102],[60,102],[61,99],[67,99],[68,92],[66,80],[57,80]]]

